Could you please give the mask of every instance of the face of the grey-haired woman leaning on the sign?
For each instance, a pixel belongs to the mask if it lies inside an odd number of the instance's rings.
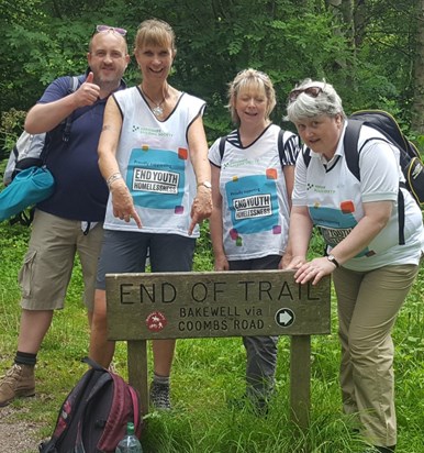
[[[342,133],[342,115],[303,118],[294,124],[308,147],[323,154],[328,161],[334,156]]]

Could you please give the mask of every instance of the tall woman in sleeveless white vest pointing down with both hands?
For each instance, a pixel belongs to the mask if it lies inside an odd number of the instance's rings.
[[[191,270],[199,226],[212,210],[211,174],[202,115],[204,101],[171,87],[175,34],[159,20],[144,21],[135,37],[142,82],[116,92],[104,112],[99,165],[110,196],[99,262],[90,356],[104,367],[105,274]],[[170,409],[175,340],[153,341],[150,404]]]

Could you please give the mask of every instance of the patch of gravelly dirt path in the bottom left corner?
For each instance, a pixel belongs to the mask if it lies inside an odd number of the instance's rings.
[[[0,408],[0,453],[38,452],[40,426],[16,420],[27,409]]]

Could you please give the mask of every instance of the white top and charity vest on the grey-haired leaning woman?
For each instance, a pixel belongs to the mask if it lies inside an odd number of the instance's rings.
[[[293,206],[306,206],[313,223],[320,226],[328,250],[337,245],[364,217],[365,202],[393,201],[391,218],[384,229],[357,256],[344,264],[353,270],[371,270],[386,265],[419,264],[424,248],[422,213],[406,189],[405,244],[399,244],[399,181],[404,181],[399,166],[399,150],[381,140],[365,144],[359,154],[360,181],[346,164],[343,139],[334,157],[326,159],[311,152],[306,168],[302,153],[295,167]],[[370,137],[381,136],[371,128],[360,130],[358,150]],[[382,137],[383,139],[383,137]]]

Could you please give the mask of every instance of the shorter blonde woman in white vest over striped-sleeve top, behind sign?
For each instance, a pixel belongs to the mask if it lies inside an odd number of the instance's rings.
[[[269,77],[241,71],[230,84],[237,129],[209,151],[215,270],[278,269],[286,251],[298,136],[271,123]],[[261,413],[274,389],[278,336],[244,336],[247,397]]]

